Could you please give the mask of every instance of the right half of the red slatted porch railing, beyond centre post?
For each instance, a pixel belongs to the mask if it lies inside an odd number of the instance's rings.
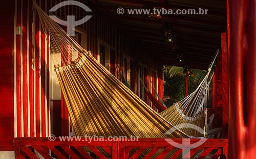
[[[176,143],[182,143],[184,139],[172,139]],[[187,139],[185,139],[187,140]],[[200,139],[189,139],[190,143],[197,143]],[[203,150],[201,154],[198,153],[198,158],[204,158],[209,153],[212,154],[211,158],[227,158],[227,146],[228,140],[224,139],[207,139],[199,147],[190,149],[190,156],[184,156],[185,158],[190,158],[198,150]],[[147,149],[147,153],[145,150]],[[157,153],[158,150],[162,149],[162,151]],[[136,152],[132,152],[136,150]],[[186,149],[186,150],[189,150]],[[143,152],[145,155],[143,158],[151,158],[151,156],[156,155],[156,158],[164,158],[170,151],[176,151],[170,158],[177,158],[182,155],[182,149],[176,148],[175,146],[166,142],[164,138],[140,138],[138,141],[119,141],[119,158],[137,158]],[[132,156],[131,153],[132,152]],[[130,156],[129,156],[130,155]]]

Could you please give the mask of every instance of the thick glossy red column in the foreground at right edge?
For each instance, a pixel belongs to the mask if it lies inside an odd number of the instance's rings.
[[[229,158],[255,158],[256,1],[230,1]]]

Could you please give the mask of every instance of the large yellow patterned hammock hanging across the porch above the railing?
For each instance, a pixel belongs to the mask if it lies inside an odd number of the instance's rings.
[[[197,107],[187,104],[188,101],[196,100],[199,92],[178,106],[172,106],[158,114],[92,57],[89,51],[77,44],[35,3],[34,9],[44,34],[51,37],[53,59],[60,59],[62,63],[60,66],[56,63],[57,60],[53,60],[76,136],[204,136],[197,131],[197,127],[205,127],[206,116],[202,111],[205,97],[200,98],[200,105]],[[203,91],[205,89],[205,85],[199,88]],[[187,105],[183,105],[185,103]],[[193,123],[196,127],[174,127],[180,123]],[[166,133],[167,131],[172,133]]]

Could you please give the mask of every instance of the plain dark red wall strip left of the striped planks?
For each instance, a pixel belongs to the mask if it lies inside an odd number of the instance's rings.
[[[0,151],[13,150],[13,17],[14,1],[0,5]],[[8,16],[7,16],[8,15]]]

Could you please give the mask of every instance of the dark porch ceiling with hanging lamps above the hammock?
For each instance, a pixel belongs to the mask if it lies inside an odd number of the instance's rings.
[[[114,20],[121,22],[121,27],[129,36],[139,41],[157,55],[165,65],[191,68],[207,68],[217,48],[221,48],[221,33],[226,32],[226,1],[222,0],[155,0],[155,1],[109,1],[90,0],[99,10]],[[122,15],[117,8],[124,8]],[[205,15],[160,15],[161,18],[147,15],[129,15],[126,9],[207,9]],[[169,22],[173,26],[175,42],[167,43],[162,38],[162,26]],[[183,54],[183,63],[177,61],[177,48]]]

